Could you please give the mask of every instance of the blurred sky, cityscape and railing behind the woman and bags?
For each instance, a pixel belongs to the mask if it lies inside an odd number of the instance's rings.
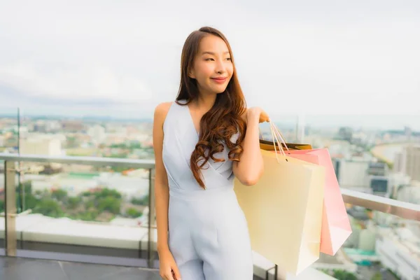
[[[158,267],[153,110],[202,26],[288,142],[329,148],[342,189],[413,213],[346,204],[353,234],[300,279],[420,279],[414,0],[0,0],[0,253]],[[255,277],[272,267],[255,256]]]

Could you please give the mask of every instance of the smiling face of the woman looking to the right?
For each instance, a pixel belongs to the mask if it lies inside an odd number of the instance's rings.
[[[233,71],[229,48],[225,41],[214,35],[202,38],[189,75],[197,80],[200,94],[224,92]]]

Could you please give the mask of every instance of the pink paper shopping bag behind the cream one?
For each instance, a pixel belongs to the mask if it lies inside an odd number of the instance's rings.
[[[288,148],[287,144],[285,144],[286,141],[284,141],[276,127],[273,127],[273,129],[274,133],[277,133],[279,139],[283,141],[282,144]],[[328,148],[295,151],[289,149],[288,151],[283,150],[283,152],[292,158],[325,167],[325,195],[320,250],[321,253],[335,255],[346,239],[349,238],[352,231]],[[281,153],[281,151],[277,153]]]

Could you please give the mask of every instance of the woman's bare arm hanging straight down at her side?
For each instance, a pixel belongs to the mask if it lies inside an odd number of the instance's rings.
[[[155,207],[158,226],[158,254],[160,276],[165,280],[181,280],[179,269],[168,245],[169,184],[162,160],[163,123],[171,102],[156,106],[153,116],[153,149],[155,151]]]

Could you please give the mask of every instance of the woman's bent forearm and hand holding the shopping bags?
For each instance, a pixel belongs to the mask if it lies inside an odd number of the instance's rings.
[[[269,118],[265,111],[253,107],[246,111],[246,134],[242,143],[243,151],[239,162],[233,162],[233,173],[245,186],[253,186],[264,172],[264,162],[260,151],[259,127]]]

